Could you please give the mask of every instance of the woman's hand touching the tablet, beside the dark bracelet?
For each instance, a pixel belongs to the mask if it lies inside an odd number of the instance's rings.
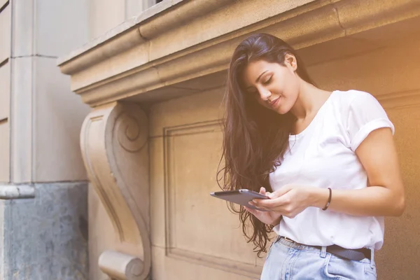
[[[300,214],[304,209],[313,205],[311,201],[311,190],[315,189],[297,185],[286,185],[271,193],[269,195],[270,200],[255,199],[250,204],[261,209],[277,212],[288,218],[295,218],[297,214]]]

